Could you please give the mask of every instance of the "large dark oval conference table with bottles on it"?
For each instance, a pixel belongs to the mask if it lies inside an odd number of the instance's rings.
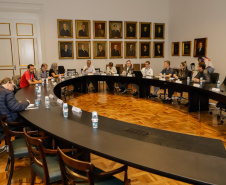
[[[92,113],[73,112],[70,105],[68,118],[64,118],[62,104],[57,103],[62,87],[73,85],[75,91],[87,92],[86,83],[95,80],[136,83],[140,86],[140,97],[145,96],[146,86],[155,85],[187,91],[190,98],[194,96],[199,101],[200,95],[226,100],[225,87],[221,87],[224,92],[213,92],[214,84],[194,87],[192,83],[158,78],[88,75],[68,78],[54,85],[49,81],[41,88],[40,107],[25,110],[20,115],[53,137],[89,153],[191,184],[226,184],[226,152],[221,140],[139,126],[104,116],[99,116],[98,129],[93,129]],[[50,94],[55,98],[50,99],[50,109],[46,109],[44,99]],[[21,89],[16,98],[28,98],[34,103],[35,86]]]

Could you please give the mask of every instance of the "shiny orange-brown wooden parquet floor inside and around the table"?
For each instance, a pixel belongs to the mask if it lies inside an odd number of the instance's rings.
[[[133,97],[130,92],[126,95],[121,95],[118,92],[107,93],[106,87],[103,88],[102,84],[100,87],[99,93],[75,93],[75,96],[67,97],[67,102],[85,111],[97,111],[101,116],[132,124],[221,139],[226,146],[226,126],[218,125],[219,120],[217,120],[216,112],[213,115],[208,112],[188,113],[187,107],[179,105],[176,100],[171,105],[163,104],[159,99],[150,100]],[[0,185],[7,184],[7,174],[5,172],[7,156],[6,152],[0,154]],[[121,165],[93,154],[91,155],[91,161],[95,166],[105,171]],[[132,180],[132,185],[187,184],[132,167],[129,167],[128,175]],[[123,174],[119,174],[116,177],[123,179]],[[28,159],[16,160],[12,184],[28,185],[29,182],[30,169]],[[36,178],[35,184],[43,185],[43,182]]]

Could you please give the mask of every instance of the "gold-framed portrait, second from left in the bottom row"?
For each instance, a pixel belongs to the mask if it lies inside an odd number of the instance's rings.
[[[89,59],[91,58],[90,41],[76,41],[76,58]]]

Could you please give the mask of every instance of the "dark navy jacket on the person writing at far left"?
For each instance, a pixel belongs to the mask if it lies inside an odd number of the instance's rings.
[[[12,91],[0,85],[0,116],[5,114],[9,122],[15,121],[18,113],[26,109],[28,101],[19,102]]]

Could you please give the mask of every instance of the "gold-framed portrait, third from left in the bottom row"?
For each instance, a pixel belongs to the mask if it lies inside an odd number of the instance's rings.
[[[107,58],[107,41],[93,41],[93,58]]]

